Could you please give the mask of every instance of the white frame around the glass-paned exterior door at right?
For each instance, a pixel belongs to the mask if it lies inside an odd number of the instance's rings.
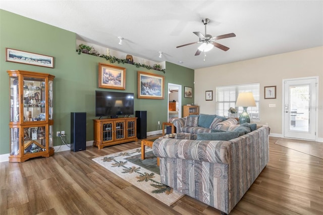
[[[311,77],[301,77],[301,78],[288,78],[288,79],[283,79],[282,81],[282,136],[285,138],[285,81],[298,81],[298,80],[304,80],[304,79],[315,79],[316,86],[315,86],[315,93],[316,93],[316,98],[315,98],[315,139],[314,140],[308,140],[308,141],[317,141],[318,138],[318,76],[311,76]],[[286,137],[290,139],[299,139],[299,138],[291,138],[291,137]],[[304,139],[305,140],[305,139]],[[307,139],[306,139],[307,140]]]

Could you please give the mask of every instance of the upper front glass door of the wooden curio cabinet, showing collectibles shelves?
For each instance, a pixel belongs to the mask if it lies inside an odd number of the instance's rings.
[[[24,122],[46,120],[45,79],[24,77]]]

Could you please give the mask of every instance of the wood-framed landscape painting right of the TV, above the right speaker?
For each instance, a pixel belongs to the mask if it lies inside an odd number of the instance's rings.
[[[164,99],[164,76],[138,71],[138,98]]]

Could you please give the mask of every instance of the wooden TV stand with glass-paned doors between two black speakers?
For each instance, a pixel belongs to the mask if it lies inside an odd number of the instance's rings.
[[[93,146],[104,146],[138,141],[137,118],[95,119]]]

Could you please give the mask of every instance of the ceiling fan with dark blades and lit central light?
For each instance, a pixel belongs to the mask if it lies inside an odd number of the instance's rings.
[[[184,44],[184,45],[179,45],[179,46],[176,46],[177,48],[180,48],[180,47],[183,47],[183,46],[186,46],[186,45],[192,45],[192,44],[195,44],[195,43],[202,43],[197,51],[195,52],[195,56],[198,56],[202,51],[206,52],[206,51],[209,51],[213,48],[213,46],[217,47],[217,48],[220,48],[224,51],[227,51],[229,50],[229,47],[225,46],[225,45],[222,45],[220,43],[217,43],[216,40],[218,39],[225,39],[225,38],[229,38],[229,37],[235,37],[236,35],[234,33],[230,33],[230,34],[223,34],[223,35],[220,35],[220,36],[214,36],[212,37],[212,35],[210,34],[206,34],[206,25],[207,23],[209,22],[210,20],[208,18],[205,18],[205,19],[202,19],[202,22],[204,24],[204,28],[205,28],[205,34],[203,35],[201,32],[193,32],[196,36],[199,37],[199,41],[197,42],[190,42],[190,43],[187,43],[187,44]]]

